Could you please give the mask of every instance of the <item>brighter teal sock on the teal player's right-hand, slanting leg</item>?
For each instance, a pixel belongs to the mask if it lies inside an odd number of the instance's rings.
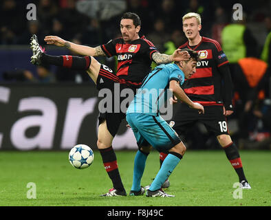
[[[169,178],[169,176],[171,175],[177,164],[180,162],[180,160],[181,159],[179,157],[169,153],[166,159],[164,159],[164,162],[155,179],[151,183],[149,190],[151,191],[159,190],[162,184],[164,184],[164,181],[166,181],[166,179]]]

